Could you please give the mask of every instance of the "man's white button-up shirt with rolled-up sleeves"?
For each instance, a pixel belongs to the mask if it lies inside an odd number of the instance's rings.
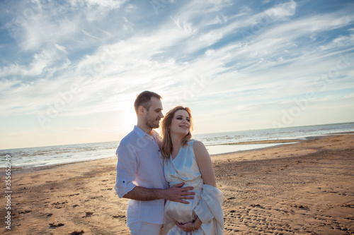
[[[144,188],[169,188],[164,176],[164,159],[158,145],[159,135],[144,133],[138,126],[120,140],[115,192],[119,198],[135,186]],[[153,224],[164,223],[164,199],[129,200],[127,226],[142,220]]]

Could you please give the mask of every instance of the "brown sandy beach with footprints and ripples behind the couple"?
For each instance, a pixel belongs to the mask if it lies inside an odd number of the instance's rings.
[[[353,142],[346,133],[212,155],[224,234],[354,234]],[[11,230],[1,170],[0,233],[129,234],[116,162],[11,171]]]

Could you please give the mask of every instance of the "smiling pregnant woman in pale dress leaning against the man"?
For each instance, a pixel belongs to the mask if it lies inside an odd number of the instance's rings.
[[[187,107],[171,109],[162,121],[161,152],[165,156],[164,174],[170,187],[184,182],[193,186],[189,204],[167,201],[164,235],[222,234],[222,192],[216,188],[212,161],[205,146],[191,140],[192,116]]]

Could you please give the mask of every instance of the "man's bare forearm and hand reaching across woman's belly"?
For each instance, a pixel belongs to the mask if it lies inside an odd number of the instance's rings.
[[[166,199],[178,203],[189,204],[188,201],[182,199],[193,199],[194,192],[188,192],[193,190],[193,187],[188,186],[182,188],[184,183],[178,183],[175,186],[167,189],[158,188],[144,188],[135,186],[131,191],[123,196],[123,198],[129,198],[134,200],[158,200]]]

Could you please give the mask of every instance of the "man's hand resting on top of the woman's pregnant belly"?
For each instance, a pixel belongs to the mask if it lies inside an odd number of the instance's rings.
[[[171,188],[165,189],[164,193],[164,199],[166,200],[171,200],[173,202],[177,203],[184,203],[184,204],[189,204],[188,201],[182,200],[182,199],[194,199],[195,192],[188,192],[193,190],[194,188],[191,186],[182,188],[184,183],[178,183],[175,186],[172,186]]]

